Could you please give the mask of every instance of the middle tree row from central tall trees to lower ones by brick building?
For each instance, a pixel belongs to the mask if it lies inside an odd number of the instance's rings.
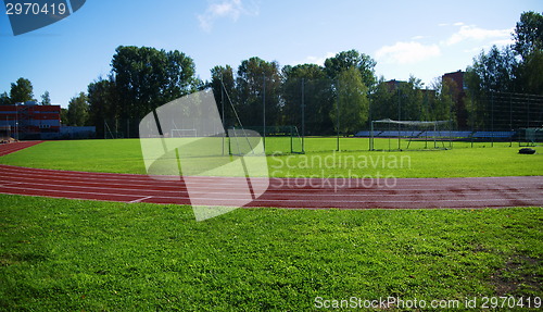
[[[243,61],[237,73],[215,66],[210,83],[216,99],[228,95],[244,125],[304,125],[306,135],[338,130],[353,134],[369,120],[455,120],[454,82],[435,79],[431,90],[420,79],[384,82],[376,62],[356,50],[343,51],[324,66],[301,64],[279,68],[258,58]],[[225,111],[227,125],[237,120]],[[247,122],[249,121],[249,123]]]

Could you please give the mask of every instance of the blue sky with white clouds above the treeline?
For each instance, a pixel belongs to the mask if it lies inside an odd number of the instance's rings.
[[[321,64],[356,49],[377,61],[377,75],[412,74],[428,86],[465,70],[482,49],[510,43],[525,11],[542,12],[543,1],[87,0],[72,16],[13,36],[2,7],[0,92],[25,77],[36,98],[48,90],[53,103],[67,107],[108,75],[117,46],[177,49],[194,60],[202,79],[215,65],[237,68],[251,57]]]

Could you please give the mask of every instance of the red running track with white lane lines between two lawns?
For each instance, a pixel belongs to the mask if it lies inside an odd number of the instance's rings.
[[[236,205],[235,177],[199,177],[191,196],[210,205]],[[384,183],[388,183],[388,186]],[[264,179],[256,183],[265,183]],[[182,180],[147,175],[53,171],[0,165],[0,192],[122,202],[190,204]],[[268,189],[245,207],[307,209],[421,209],[543,207],[543,177],[272,178]]]

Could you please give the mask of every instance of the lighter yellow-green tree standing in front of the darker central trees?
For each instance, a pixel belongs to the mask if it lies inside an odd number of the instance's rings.
[[[367,124],[369,100],[368,88],[364,85],[356,67],[350,67],[338,76],[339,108],[330,112],[336,129],[343,135],[352,135]],[[338,116],[339,113],[339,116]],[[339,120],[339,125],[338,121]]]

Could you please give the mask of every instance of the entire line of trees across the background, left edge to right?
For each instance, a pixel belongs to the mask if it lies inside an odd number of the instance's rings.
[[[493,47],[473,59],[465,76],[468,87],[466,113],[471,124],[484,124],[481,112],[489,110],[491,92],[543,92],[543,17],[527,12],[513,34],[515,45]],[[458,86],[435,79],[426,89],[420,79],[386,83],[375,74],[376,62],[356,50],[343,51],[316,64],[287,65],[251,58],[239,64],[215,66],[211,80],[195,76],[193,60],[177,50],[148,47],[118,47],[108,77],[89,84],[63,111],[70,125],[96,125],[105,120],[138,121],[153,109],[211,87],[226,126],[239,120],[245,126],[305,125],[308,135],[339,130],[352,134],[369,120],[455,120],[464,113],[458,105]],[[20,78],[0,103],[34,100],[31,84]],[[42,104],[50,103],[49,93]],[[233,107],[233,110],[232,110]],[[265,109],[264,109],[265,108]],[[137,122],[132,123],[137,126]],[[135,134],[135,132],[134,132]]]

